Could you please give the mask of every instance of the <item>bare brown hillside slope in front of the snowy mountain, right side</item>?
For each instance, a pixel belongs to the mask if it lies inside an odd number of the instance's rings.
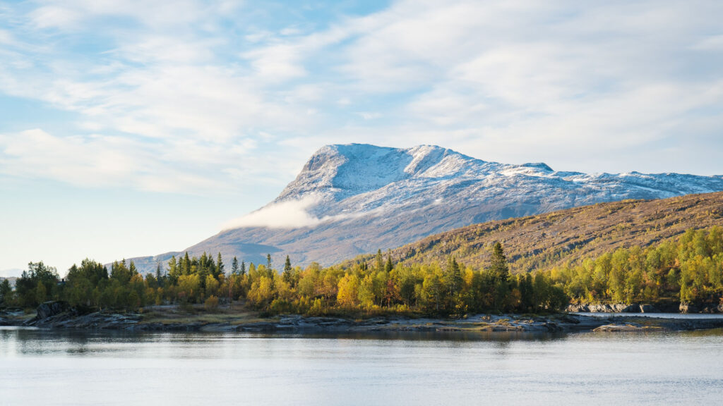
[[[391,251],[395,261],[443,263],[453,255],[474,267],[489,265],[500,241],[512,272],[572,264],[624,246],[648,246],[689,228],[723,225],[723,192],[661,200],[624,200],[492,221],[424,238]],[[362,257],[371,259],[371,256]]]

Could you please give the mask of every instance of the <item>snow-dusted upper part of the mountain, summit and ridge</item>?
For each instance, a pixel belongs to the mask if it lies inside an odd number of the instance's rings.
[[[401,207],[415,210],[439,204],[440,199],[454,204],[532,199],[549,201],[554,210],[721,188],[721,177],[556,172],[545,163],[487,162],[435,145],[405,149],[345,144],[327,145],[315,152],[270,206],[315,195],[317,202],[305,210],[319,219],[338,220],[345,213],[359,216]]]

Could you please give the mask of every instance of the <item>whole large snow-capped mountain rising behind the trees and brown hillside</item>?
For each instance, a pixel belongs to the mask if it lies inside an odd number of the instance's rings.
[[[723,191],[723,176],[586,174],[486,162],[431,145],[328,145],[260,210],[184,251],[247,262],[333,264],[446,230],[623,199]],[[183,251],[180,251],[181,253]],[[134,259],[155,269],[171,252]]]

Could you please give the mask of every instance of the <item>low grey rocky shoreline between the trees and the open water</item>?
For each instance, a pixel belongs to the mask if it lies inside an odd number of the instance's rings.
[[[33,319],[22,312],[0,314],[0,325],[43,329],[109,329],[140,332],[651,332],[723,328],[723,318],[666,319],[636,316],[588,316],[552,314],[547,316],[476,314],[464,319],[405,318],[401,316],[345,319],[282,315],[252,321],[147,321],[140,313],[96,311],[82,314],[60,302],[43,303]]]

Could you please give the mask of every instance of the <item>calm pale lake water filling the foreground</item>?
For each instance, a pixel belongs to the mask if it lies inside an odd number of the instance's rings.
[[[0,329],[0,405],[719,405],[723,330],[262,334]]]

